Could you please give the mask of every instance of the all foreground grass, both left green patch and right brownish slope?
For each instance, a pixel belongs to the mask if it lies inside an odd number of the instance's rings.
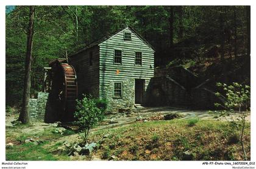
[[[19,129],[7,129],[6,142],[14,143],[13,147],[6,148],[7,160],[74,160],[65,153],[52,153],[52,150],[63,145],[63,141],[58,140],[68,140],[70,136],[54,134],[52,129],[24,135],[19,133]],[[93,155],[104,160],[113,155],[118,160],[187,160],[186,151],[191,160],[243,160],[240,142],[237,137],[231,136],[233,133],[234,130],[227,122],[199,120],[193,123],[191,120],[179,119],[137,122],[119,128],[102,129],[91,133],[89,139],[99,145]],[[247,158],[250,159],[249,123],[245,133]],[[103,138],[105,134],[109,134],[107,138]],[[30,137],[43,142],[39,145],[24,143]],[[90,157],[82,159],[90,160]]]

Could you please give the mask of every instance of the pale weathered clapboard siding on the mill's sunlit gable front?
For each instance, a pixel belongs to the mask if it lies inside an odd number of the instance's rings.
[[[132,33],[131,41],[124,41],[124,32]],[[122,50],[122,64],[114,64],[114,50]],[[142,65],[135,65],[135,52],[142,53]],[[154,50],[144,43],[129,28],[113,35],[99,44],[99,97],[110,98],[106,91],[113,81],[127,81],[135,78],[145,80],[145,90],[154,77]],[[116,74],[119,70],[119,74]],[[130,82],[129,82],[130,84]],[[134,88],[134,84],[133,84]],[[123,88],[123,91],[126,89]],[[134,98],[131,98],[134,103]]]

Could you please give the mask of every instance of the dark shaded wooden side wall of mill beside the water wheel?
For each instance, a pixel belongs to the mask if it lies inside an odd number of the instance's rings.
[[[90,52],[93,53],[93,65],[90,66]],[[70,58],[77,74],[78,92],[99,97],[99,46],[91,47]]]

